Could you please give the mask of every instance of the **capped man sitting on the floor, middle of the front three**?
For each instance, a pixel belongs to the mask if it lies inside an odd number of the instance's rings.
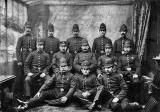
[[[90,62],[83,61],[81,66],[81,73],[75,75],[77,82],[74,97],[78,99],[80,104],[89,110],[93,110],[99,99],[100,84],[97,81],[96,75],[90,72]]]

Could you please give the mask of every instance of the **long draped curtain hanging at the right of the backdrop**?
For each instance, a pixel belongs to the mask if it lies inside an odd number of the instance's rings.
[[[147,1],[139,1],[134,4],[133,39],[135,39],[135,45],[137,46],[136,53],[138,54],[140,61],[142,61],[146,48],[150,11],[151,6]]]

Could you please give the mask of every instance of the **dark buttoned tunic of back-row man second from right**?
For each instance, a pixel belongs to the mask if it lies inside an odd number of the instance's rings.
[[[105,44],[107,43],[112,45],[111,39],[105,36],[94,39],[92,52],[96,54],[96,59],[105,54]]]

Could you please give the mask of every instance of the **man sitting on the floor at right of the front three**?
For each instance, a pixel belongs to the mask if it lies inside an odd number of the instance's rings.
[[[98,81],[103,85],[101,101],[107,101],[107,108],[113,111],[140,109],[141,106],[137,102],[130,103],[126,98],[128,87],[122,75],[114,72],[113,59],[108,58],[105,63],[102,75],[98,77]]]

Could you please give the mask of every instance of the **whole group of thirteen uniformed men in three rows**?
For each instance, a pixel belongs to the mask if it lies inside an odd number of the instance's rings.
[[[16,53],[18,65],[24,68],[27,101],[18,100],[18,110],[39,103],[66,105],[73,99],[89,111],[104,106],[112,111],[145,109],[136,100],[141,63],[133,41],[126,36],[125,24],[120,28],[121,37],[112,45],[102,23],[92,48],[87,39],[79,36],[78,24],[73,25],[73,37],[67,41],[54,37],[52,24],[48,25],[48,37],[44,39],[32,36],[29,23],[25,31],[17,42]],[[33,96],[32,86],[37,80],[42,84]]]

